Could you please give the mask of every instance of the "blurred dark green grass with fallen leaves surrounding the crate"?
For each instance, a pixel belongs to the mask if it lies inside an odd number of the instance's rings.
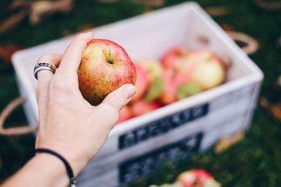
[[[43,2],[43,4],[42,4]],[[50,3],[51,2],[51,3]],[[0,0],[0,111],[20,96],[11,54],[86,29],[106,25],[183,0]],[[222,153],[213,148],[174,164],[132,186],[172,183],[181,172],[203,168],[222,186],[280,186],[281,183],[281,1],[196,1],[226,32],[242,32],[259,48],[249,57],[265,74],[251,129]],[[237,43],[241,47],[245,43]],[[5,127],[27,124],[21,107]],[[0,135],[0,181],[11,176],[33,155],[34,136]]]

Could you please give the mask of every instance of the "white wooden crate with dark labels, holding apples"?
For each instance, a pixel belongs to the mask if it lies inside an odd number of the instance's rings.
[[[198,145],[190,153],[204,151],[219,137],[247,130],[259,94],[263,74],[249,57],[195,3],[139,15],[93,29],[95,38],[110,39],[123,46],[133,60],[161,57],[174,46],[189,49],[206,48],[231,62],[227,81],[180,102],[138,116],[115,127],[96,158],[79,175],[81,186],[117,186],[138,175],[129,176],[128,160],[157,155],[165,147],[176,146],[188,137],[201,134]],[[209,42],[200,43],[200,37]],[[74,36],[41,46],[21,50],[12,61],[22,96],[26,98],[25,113],[30,125],[38,122],[35,97],[37,82],[33,67],[46,53],[63,53]],[[189,140],[188,140],[189,141]],[[133,161],[131,163],[134,164]],[[125,167],[126,166],[126,167]],[[156,168],[156,167],[155,167]],[[110,178],[107,178],[110,177]],[[107,180],[110,179],[110,180]],[[129,180],[130,179],[130,180]]]

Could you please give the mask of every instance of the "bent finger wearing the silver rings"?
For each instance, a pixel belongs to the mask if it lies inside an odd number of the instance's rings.
[[[62,59],[63,54],[51,54],[44,55],[39,58],[37,63],[47,62],[52,64],[55,67],[58,67],[60,60]],[[37,74],[38,77],[38,87],[37,87],[37,102],[39,107],[39,116],[40,119],[44,120],[44,115],[46,115],[46,103],[48,97],[48,85],[53,77],[51,71],[39,71]]]

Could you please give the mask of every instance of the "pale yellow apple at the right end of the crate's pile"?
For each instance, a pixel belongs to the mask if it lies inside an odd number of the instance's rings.
[[[177,64],[176,69],[203,90],[223,83],[226,76],[223,62],[207,50],[191,52],[185,60]]]

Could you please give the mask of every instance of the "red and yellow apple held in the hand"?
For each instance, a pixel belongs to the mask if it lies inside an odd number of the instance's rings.
[[[120,86],[136,82],[136,68],[124,48],[105,39],[89,41],[77,73],[79,90],[92,105]]]

